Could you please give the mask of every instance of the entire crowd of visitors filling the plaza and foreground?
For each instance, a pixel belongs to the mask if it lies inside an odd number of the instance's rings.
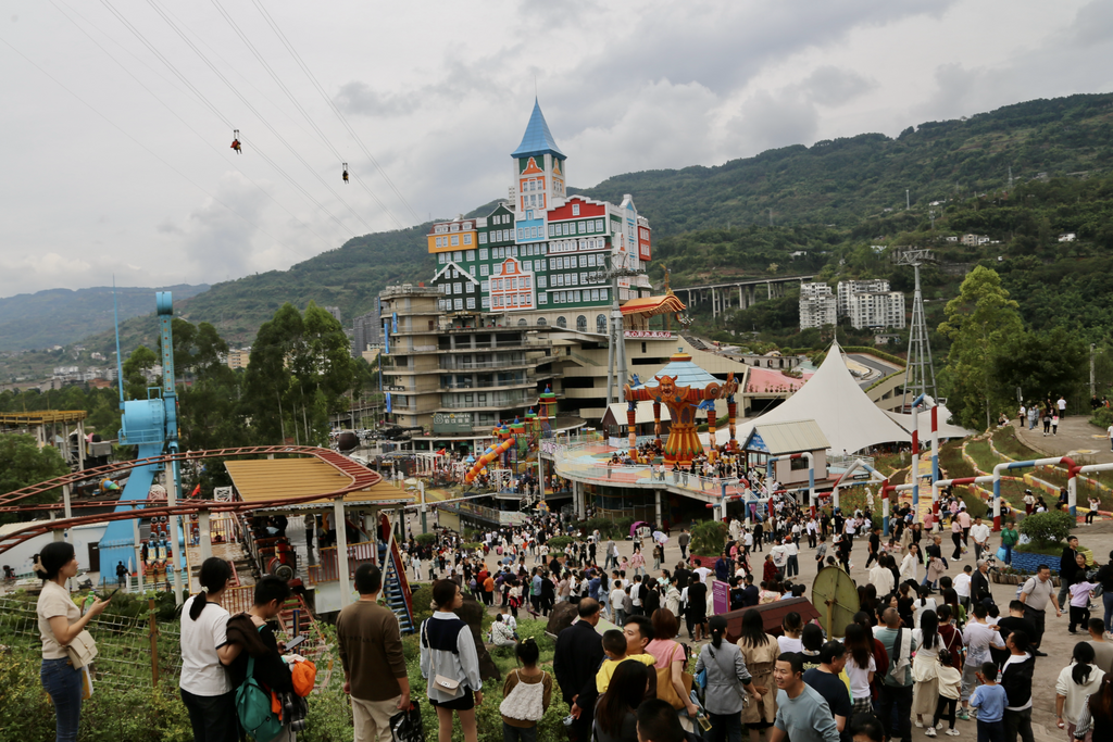
[[[731,742],[743,733],[750,742],[760,742],[762,733],[766,742],[907,742],[914,726],[928,736],[956,735],[956,724],[971,720],[979,740],[1031,742],[1033,671],[1036,657],[1046,656],[1052,611],[1055,619],[1068,613],[1067,631],[1083,640],[1057,676],[1057,722],[1080,740],[1109,735],[1113,553],[1095,571],[1072,537],[1057,565],[1060,590],[1042,565],[1015,600],[998,605],[988,578],[989,530],[961,501],[944,498],[939,516],[926,523],[912,523],[902,506],[892,522],[892,535],[883,537],[868,508],[812,516],[776,497],[771,512],[751,525],[731,518],[726,546],[710,563],[688,553],[688,528],[672,540],[667,526],[653,524],[633,534],[622,550],[629,555],[619,550],[624,540],[579,533],[558,516],[492,528],[471,543],[449,532],[431,543],[408,537],[406,568],[432,582],[435,611],[418,639],[439,736],[450,739],[456,720],[465,740],[477,736],[477,646],[456,613],[467,595],[495,614],[486,641],[518,660],[500,705],[508,741],[534,742],[538,721],[559,692],[571,710],[569,734],[584,742],[679,741],[692,733]],[[944,534],[951,537],[946,550]],[[997,535],[1006,548],[1015,543],[1012,523]],[[570,537],[553,542],[558,536]],[[778,635],[769,633],[754,609],[806,595],[806,586],[794,581],[801,551],[811,550],[817,567],[849,572],[859,541],[866,580],[857,585],[860,612],[854,620],[827,635],[789,611]],[[666,544],[679,547],[679,560],[666,560]],[[959,568],[956,560],[971,550],[974,564]],[[106,605],[96,601],[82,611],[65,594],[61,586],[76,566],[72,546],[60,542],[43,550],[37,567],[45,580],[42,682],[59,740],[76,739],[81,705],[81,670],[69,650]],[[233,616],[220,604],[229,578],[226,562],[206,561],[201,591],[181,613],[179,684],[195,740],[238,739],[237,689],[252,680],[268,698],[274,693],[282,711],[260,722],[269,726],[248,731],[260,740],[292,739],[304,723],[313,667],[286,652],[270,629],[289,588],[264,577],[254,606]],[[336,621],[344,690],[355,739],[390,739],[390,720],[411,705],[412,679],[397,621],[377,602],[382,574],[364,564],[354,578],[359,600]],[[729,609],[743,611],[729,637],[727,622],[712,610],[716,582],[728,585]],[[1103,619],[1091,615],[1099,597]],[[536,643],[520,640],[518,621],[520,611],[544,616],[560,603],[572,604],[578,620],[558,635],[550,675],[539,665]],[[615,629],[598,631],[602,620]]]

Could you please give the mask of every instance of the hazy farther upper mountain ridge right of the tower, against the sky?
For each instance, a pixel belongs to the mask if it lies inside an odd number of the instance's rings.
[[[647,170],[608,178],[587,196],[633,195],[654,236],[774,224],[854,227],[884,209],[1092,171],[1113,164],[1113,93],[1006,106],[968,119],[927,121],[896,139],[863,133],[796,145],[718,167]]]

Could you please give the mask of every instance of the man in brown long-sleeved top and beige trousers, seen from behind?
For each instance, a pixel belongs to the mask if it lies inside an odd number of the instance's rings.
[[[390,742],[391,716],[410,708],[410,679],[402,655],[398,619],[377,603],[382,571],[355,571],[359,600],[341,611],[336,639],[344,665],[344,692],[352,695],[355,742]]]

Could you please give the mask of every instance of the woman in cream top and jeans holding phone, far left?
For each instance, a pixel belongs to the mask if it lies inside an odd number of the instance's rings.
[[[77,555],[65,541],[51,542],[35,555],[35,574],[42,580],[36,605],[42,640],[39,677],[55,706],[56,742],[73,742],[81,722],[81,670],[73,667],[66,646],[100,615],[108,601],[98,600],[81,615],[66,590],[66,581],[77,576]]]

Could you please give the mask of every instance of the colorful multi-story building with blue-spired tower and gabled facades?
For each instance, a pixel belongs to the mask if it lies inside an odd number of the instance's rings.
[[[460,216],[430,229],[439,308],[505,315],[501,324],[605,334],[607,308],[615,299],[651,294],[644,275],[608,273],[644,268],[652,258],[649,221],[630,196],[615,206],[568,195],[568,157],[536,101],[511,158],[506,201],[484,217]]]

